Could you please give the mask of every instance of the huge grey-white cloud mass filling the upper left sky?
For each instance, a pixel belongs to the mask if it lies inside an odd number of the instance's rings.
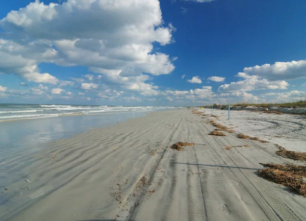
[[[157,0],[68,0],[49,5],[36,1],[0,20],[2,36],[13,40],[8,45],[0,38],[0,72],[52,84],[58,80],[38,72],[41,62],[168,74],[175,57],[155,53],[153,46],[173,42],[175,28],[163,24]]]

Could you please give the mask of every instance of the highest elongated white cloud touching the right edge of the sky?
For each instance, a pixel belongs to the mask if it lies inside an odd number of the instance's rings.
[[[306,77],[306,60],[275,62],[261,66],[246,67],[247,75],[259,76],[270,81],[293,80]]]

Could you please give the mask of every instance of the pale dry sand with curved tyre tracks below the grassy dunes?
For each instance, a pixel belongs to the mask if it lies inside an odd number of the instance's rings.
[[[211,113],[211,110],[206,112]],[[213,114],[217,115],[218,119],[211,119],[233,128],[237,133],[260,137],[290,151],[306,152],[306,115],[231,111],[228,120],[226,110],[214,110]]]

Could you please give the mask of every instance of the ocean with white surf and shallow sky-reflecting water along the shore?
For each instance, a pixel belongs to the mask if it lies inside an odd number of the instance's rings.
[[[0,160],[13,152],[38,151],[45,142],[173,108],[0,104]]]

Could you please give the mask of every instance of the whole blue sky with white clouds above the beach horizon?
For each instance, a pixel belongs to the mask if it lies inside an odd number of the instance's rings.
[[[15,0],[0,103],[194,106],[306,100],[304,0]]]

